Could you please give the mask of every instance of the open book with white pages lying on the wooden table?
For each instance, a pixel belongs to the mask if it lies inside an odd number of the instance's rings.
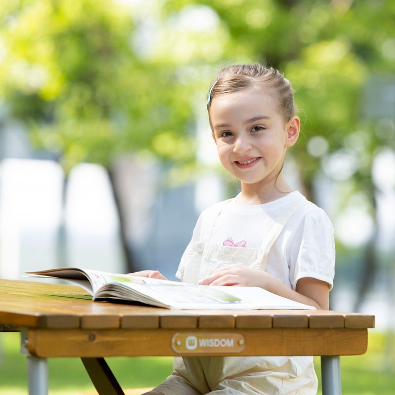
[[[176,310],[315,310],[312,306],[294,302],[259,287],[194,285],[78,268],[26,272],[26,275],[71,281],[89,292],[94,301],[140,302]]]

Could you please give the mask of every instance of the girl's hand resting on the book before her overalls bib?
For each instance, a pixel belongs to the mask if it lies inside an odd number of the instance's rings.
[[[199,285],[241,285],[266,288],[268,276],[270,275],[262,270],[229,265],[201,279]]]

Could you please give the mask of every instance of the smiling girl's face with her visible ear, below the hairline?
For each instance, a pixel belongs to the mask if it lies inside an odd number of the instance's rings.
[[[299,118],[285,122],[269,89],[251,87],[217,96],[210,105],[219,158],[242,185],[273,181],[275,186],[286,148],[299,136]]]

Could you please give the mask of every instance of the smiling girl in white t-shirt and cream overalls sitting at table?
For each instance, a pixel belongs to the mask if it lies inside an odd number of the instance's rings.
[[[240,180],[241,192],[203,211],[176,276],[202,285],[260,286],[328,309],[333,228],[283,174],[300,130],[290,82],[259,64],[230,66],[211,86],[207,109],[221,163]],[[136,274],[164,278],[157,271]],[[312,357],[176,357],[173,374],[146,395],[316,392]]]

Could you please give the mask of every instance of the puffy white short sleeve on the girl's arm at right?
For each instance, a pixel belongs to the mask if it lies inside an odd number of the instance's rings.
[[[333,287],[335,241],[333,226],[326,213],[314,206],[301,221],[289,248],[292,288],[300,278],[312,277]]]

